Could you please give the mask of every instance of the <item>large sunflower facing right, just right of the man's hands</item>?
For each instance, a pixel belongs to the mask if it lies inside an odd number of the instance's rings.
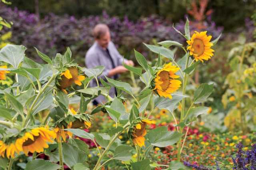
[[[172,99],[171,93],[178,90],[181,84],[181,81],[176,80],[180,77],[175,74],[178,70],[178,67],[168,63],[156,73],[154,89],[156,89],[158,95]]]

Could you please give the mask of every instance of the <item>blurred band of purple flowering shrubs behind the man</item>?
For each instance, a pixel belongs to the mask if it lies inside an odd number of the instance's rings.
[[[172,28],[172,22],[158,16],[140,18],[132,22],[127,17],[123,20],[110,17],[106,12],[103,12],[102,16],[86,16],[80,19],[68,15],[48,14],[39,21],[35,14],[4,6],[0,7],[0,16],[14,23],[10,41],[25,45],[28,48],[26,54],[37,61],[40,59],[33,46],[51,57],[54,57],[54,53],[63,53],[69,46],[76,61],[83,65],[84,55],[94,42],[92,29],[98,23],[105,23],[110,27],[112,41],[117,45],[120,53],[127,58],[133,55],[130,51],[134,48],[148,55],[148,50],[142,42],[174,40],[185,43],[185,39],[176,34]],[[184,24],[185,22],[181,20],[175,24],[175,27],[183,32]],[[213,38],[218,37],[222,32],[222,27],[217,28],[210,18],[204,22],[204,25]],[[196,28],[191,26],[190,30],[193,32]]]

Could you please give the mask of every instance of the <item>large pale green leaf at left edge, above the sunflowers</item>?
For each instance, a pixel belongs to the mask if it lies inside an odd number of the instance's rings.
[[[25,56],[26,47],[23,45],[8,44],[0,50],[0,61],[9,63],[18,68]]]

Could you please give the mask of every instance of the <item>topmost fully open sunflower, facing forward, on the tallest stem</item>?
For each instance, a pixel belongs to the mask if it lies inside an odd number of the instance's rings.
[[[207,36],[206,31],[196,32],[192,35],[191,39],[187,41],[190,50],[189,55],[193,55],[196,61],[208,60],[213,56],[214,50],[211,49],[213,43],[210,42],[212,36]]]

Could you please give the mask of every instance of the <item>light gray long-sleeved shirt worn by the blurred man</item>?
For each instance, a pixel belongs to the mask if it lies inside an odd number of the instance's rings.
[[[113,42],[108,43],[108,51],[112,57],[115,67],[122,65],[123,57],[122,57],[122,55],[120,55],[120,53],[116,49]],[[126,61],[126,59],[124,59],[124,61]],[[85,64],[86,64],[87,68],[94,68],[99,65],[103,65],[105,67],[103,73],[100,76],[98,76],[98,80],[100,78],[106,80],[105,76],[108,76],[109,71],[111,69],[113,69],[112,62],[111,62],[110,58],[108,57],[106,50],[103,49],[97,42],[94,42],[92,47],[90,47],[90,49],[87,51],[86,56],[85,56]],[[112,76],[110,78],[114,79],[114,76]],[[99,83],[100,83],[100,81],[99,81]],[[90,82],[90,86],[91,87],[97,86],[95,79],[93,79]],[[102,86],[101,83],[100,83],[100,86]],[[114,87],[112,87],[110,89],[109,95],[111,97],[114,97],[114,95],[115,95]],[[96,101],[98,103],[105,102],[105,97],[101,95],[96,98]]]

